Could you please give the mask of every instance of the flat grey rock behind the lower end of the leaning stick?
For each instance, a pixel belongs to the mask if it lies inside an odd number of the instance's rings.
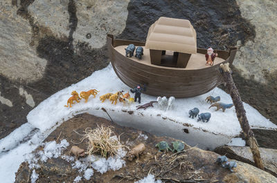
[[[271,148],[259,148],[259,150],[262,163],[265,166],[265,171],[277,177],[277,150]],[[221,146],[215,148],[215,153],[226,155],[231,159],[255,166],[251,149],[249,147]]]

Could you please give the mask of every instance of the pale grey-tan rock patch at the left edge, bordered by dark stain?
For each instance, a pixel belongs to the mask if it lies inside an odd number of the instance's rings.
[[[0,3],[0,74],[13,81],[37,81],[47,61],[37,57],[30,46],[33,34],[28,21],[17,16],[17,8],[8,3]]]

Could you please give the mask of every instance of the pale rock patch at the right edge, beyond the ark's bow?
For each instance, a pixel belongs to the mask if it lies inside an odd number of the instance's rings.
[[[243,77],[267,83],[277,79],[277,1],[238,0],[242,17],[256,30],[256,37],[244,45],[238,41],[238,52],[233,62]]]

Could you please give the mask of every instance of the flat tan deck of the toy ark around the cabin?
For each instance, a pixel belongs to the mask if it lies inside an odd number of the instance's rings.
[[[129,59],[132,59],[133,61],[137,61],[141,64],[145,64],[145,65],[149,65],[149,66],[154,66],[157,68],[168,68],[166,66],[157,66],[157,65],[153,65],[151,64],[150,61],[150,50],[146,49],[144,46],[143,47],[143,56],[141,59],[138,59],[136,57],[128,57]],[[127,48],[127,45],[125,46],[116,46],[114,49],[117,50],[118,52],[120,52],[120,54],[125,55],[125,48]],[[135,51],[136,52],[136,51]],[[134,52],[134,55],[135,55]],[[172,55],[172,52],[166,52],[166,55]],[[225,61],[224,59],[220,58],[220,57],[216,57],[215,61],[214,61],[214,65],[220,64],[223,61]],[[192,54],[190,57],[190,60],[188,61],[188,65],[186,66],[186,68],[174,68],[174,67],[170,67],[172,69],[177,69],[177,70],[195,70],[195,69],[201,69],[201,68],[208,68],[211,67],[210,65],[206,66],[206,58],[204,54],[201,53],[197,53],[197,54]]]

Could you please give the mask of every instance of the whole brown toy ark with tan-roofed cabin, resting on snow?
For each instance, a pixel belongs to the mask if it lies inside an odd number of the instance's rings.
[[[129,44],[143,47],[142,59],[125,57]],[[190,21],[160,17],[148,31],[146,42],[114,39],[107,35],[111,65],[127,86],[146,84],[146,94],[194,97],[222,84],[220,64],[231,65],[237,51],[215,50],[213,66],[206,66],[206,49],[197,48]]]

